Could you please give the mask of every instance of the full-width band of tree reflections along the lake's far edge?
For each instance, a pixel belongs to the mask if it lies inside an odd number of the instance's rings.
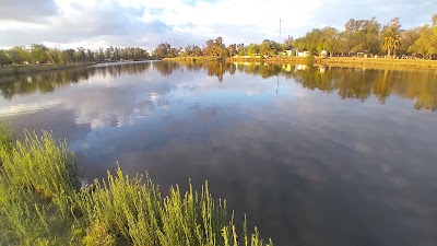
[[[415,109],[437,109],[437,71],[309,67],[305,65],[269,65],[260,62],[138,62],[120,66],[96,66],[73,70],[49,71],[26,75],[0,78],[0,93],[11,99],[15,94],[49,93],[54,90],[88,80],[95,75],[117,78],[121,74],[143,73],[149,69],[162,75],[175,70],[205,70],[210,77],[223,82],[225,74],[236,71],[246,74],[291,79],[309,90],[335,93],[340,98],[357,98],[365,102],[375,96],[383,104],[389,96],[397,95],[414,101]]]

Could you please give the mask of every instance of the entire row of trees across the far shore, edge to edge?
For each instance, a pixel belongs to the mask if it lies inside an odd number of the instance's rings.
[[[108,47],[98,50],[76,49],[59,50],[42,44],[29,47],[0,49],[0,66],[13,65],[62,65],[71,62],[105,62],[144,59],[185,59],[185,60],[264,60],[290,59],[290,57],[361,57],[390,59],[437,59],[437,14],[432,24],[412,30],[403,30],[398,17],[386,25],[375,17],[370,20],[351,19],[344,30],[332,26],[314,28],[305,36],[284,40],[264,39],[259,44],[225,45],[222,37],[209,39],[203,46],[188,45],[185,48],[161,43],[154,50],[140,47]]]

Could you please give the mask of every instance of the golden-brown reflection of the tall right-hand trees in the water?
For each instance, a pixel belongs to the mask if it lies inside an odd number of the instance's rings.
[[[341,98],[358,98],[362,102],[374,95],[386,103],[390,94],[415,99],[416,109],[437,109],[437,71],[425,70],[373,70],[353,68],[328,68],[291,71],[304,87],[323,92],[338,91]]]

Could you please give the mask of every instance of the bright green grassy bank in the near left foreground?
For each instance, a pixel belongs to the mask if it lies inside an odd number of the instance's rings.
[[[163,197],[147,176],[118,168],[83,187],[64,142],[25,137],[0,124],[0,245],[272,245],[257,227],[248,234],[246,219],[237,229],[208,183]]]

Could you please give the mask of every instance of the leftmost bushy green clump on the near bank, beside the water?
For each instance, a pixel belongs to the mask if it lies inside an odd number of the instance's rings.
[[[14,145],[12,150],[0,147],[2,175],[11,185],[44,198],[71,194],[80,186],[74,155],[66,142],[56,142],[47,131],[40,138],[25,131],[25,140]]]

